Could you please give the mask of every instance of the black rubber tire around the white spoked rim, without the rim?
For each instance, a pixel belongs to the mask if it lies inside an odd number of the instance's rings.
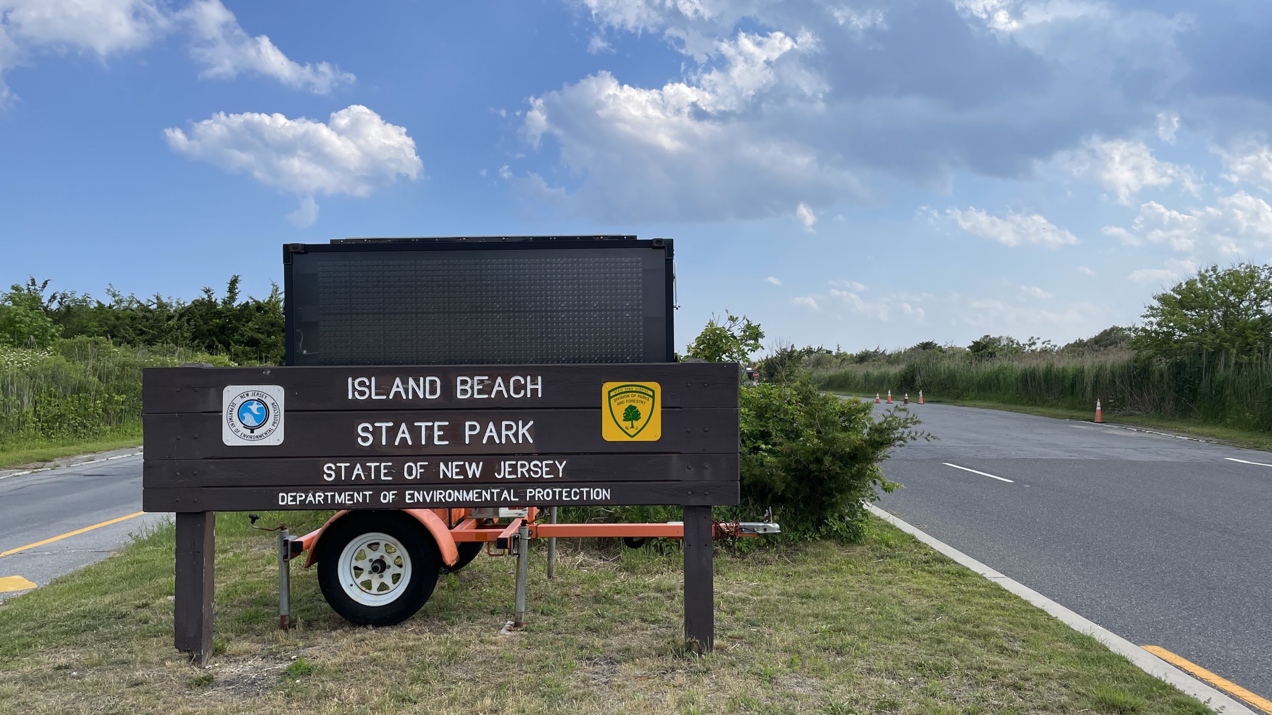
[[[383,606],[359,603],[340,585],[340,553],[349,542],[368,532],[388,534],[411,559],[411,579],[402,595]],[[415,616],[438,585],[441,559],[432,534],[410,514],[401,511],[354,511],[327,527],[319,538],[318,587],[332,611],[355,626],[393,626]]]

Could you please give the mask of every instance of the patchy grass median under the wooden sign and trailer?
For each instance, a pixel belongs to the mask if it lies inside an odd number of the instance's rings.
[[[291,513],[295,529],[322,514]],[[277,520],[277,514],[267,520]],[[827,712],[1202,714],[1207,710],[912,537],[716,560],[716,651],[681,644],[681,562],[668,550],[536,545],[529,625],[511,616],[511,559],[444,575],[416,617],[355,628],[293,571],[276,607],[273,539],[218,518],[216,637],[207,669],[172,649],[170,525],[0,606],[3,712],[389,714]]]

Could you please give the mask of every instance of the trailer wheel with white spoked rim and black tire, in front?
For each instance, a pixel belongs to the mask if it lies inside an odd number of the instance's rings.
[[[392,626],[413,616],[438,585],[438,547],[399,511],[355,511],[322,536],[318,585],[332,611],[356,626]]]

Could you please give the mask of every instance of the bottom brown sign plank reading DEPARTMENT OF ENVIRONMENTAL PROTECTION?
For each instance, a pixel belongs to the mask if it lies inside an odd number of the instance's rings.
[[[731,505],[739,482],[625,481],[560,485],[420,485],[145,489],[146,511],[248,511],[252,509],[448,509],[467,506]]]

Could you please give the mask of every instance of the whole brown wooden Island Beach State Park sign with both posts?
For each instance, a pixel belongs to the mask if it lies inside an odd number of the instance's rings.
[[[739,499],[738,366],[150,368],[142,508],[177,513],[176,645],[211,653],[215,511],[684,506],[710,650],[712,505]]]

